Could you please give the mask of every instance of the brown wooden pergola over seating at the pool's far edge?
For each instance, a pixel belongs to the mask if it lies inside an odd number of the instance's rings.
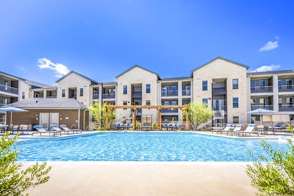
[[[108,127],[108,110],[113,109],[133,109],[133,130],[136,128],[136,113],[137,109],[157,109],[158,110],[158,126],[161,129],[161,109],[180,109],[186,110],[186,129],[189,129],[188,124],[188,105],[106,105],[106,127]],[[182,113],[182,124],[183,124],[183,113]]]

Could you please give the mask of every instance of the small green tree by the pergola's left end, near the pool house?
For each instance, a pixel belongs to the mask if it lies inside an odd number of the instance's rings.
[[[99,104],[98,101],[94,101],[92,105],[88,107],[90,111],[90,115],[92,116],[93,120],[96,122],[101,122],[105,127],[106,123],[106,106],[107,102],[103,102],[102,106]],[[101,116],[102,112],[102,116]],[[114,123],[116,117],[115,110],[108,110],[108,123]]]

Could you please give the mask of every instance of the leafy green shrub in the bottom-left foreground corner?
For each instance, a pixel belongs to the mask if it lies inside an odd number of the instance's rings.
[[[22,164],[16,163],[19,151],[16,143],[19,135],[8,137],[4,133],[0,139],[0,195],[1,196],[23,196],[23,192],[30,187],[35,187],[49,180],[46,176],[51,166],[46,169],[47,163],[42,165],[36,163],[21,171]]]

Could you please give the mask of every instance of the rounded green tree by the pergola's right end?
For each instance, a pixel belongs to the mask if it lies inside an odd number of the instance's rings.
[[[186,118],[186,111],[183,110],[184,119]],[[213,111],[207,107],[207,103],[190,102],[188,109],[189,121],[194,124],[197,130],[202,123],[207,123],[213,117]]]

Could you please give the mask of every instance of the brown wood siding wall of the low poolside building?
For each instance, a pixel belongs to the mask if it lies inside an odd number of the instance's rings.
[[[25,108],[23,108],[25,109]],[[78,109],[25,109],[28,112],[12,112],[14,125],[29,124],[39,125],[40,113],[59,113],[59,125],[65,124],[70,128],[73,124],[78,127]],[[10,124],[10,112],[7,112],[6,123]],[[60,116],[61,114],[61,116]],[[37,115],[37,116],[36,116]],[[37,120],[38,118],[38,120]],[[69,118],[69,119],[65,119]],[[80,110],[80,129],[83,129],[84,110]],[[49,122],[50,124],[50,122]],[[89,111],[85,112],[85,128],[89,124]],[[73,128],[75,128],[73,126]]]

